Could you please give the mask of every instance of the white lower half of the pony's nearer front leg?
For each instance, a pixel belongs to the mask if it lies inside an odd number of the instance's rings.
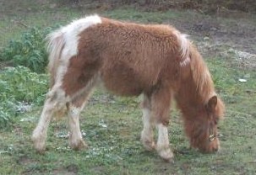
[[[169,147],[168,129],[165,125],[158,124],[158,140],[156,144],[156,151],[166,161],[170,161],[173,153]]]

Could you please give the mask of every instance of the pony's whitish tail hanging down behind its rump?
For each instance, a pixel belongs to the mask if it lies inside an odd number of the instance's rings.
[[[57,30],[46,36],[47,47],[49,53],[48,72],[50,73],[50,87],[55,83],[57,67],[65,45],[64,35],[61,30]]]

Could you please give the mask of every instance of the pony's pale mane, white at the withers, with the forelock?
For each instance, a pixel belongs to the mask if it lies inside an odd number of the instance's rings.
[[[195,100],[199,103],[206,105],[210,98],[213,96],[217,96],[215,93],[214,82],[212,81],[212,77],[210,75],[209,69],[206,66],[203,57],[199,54],[196,46],[193,45],[191,41],[186,39],[186,35],[181,35],[177,37],[179,39],[179,43],[181,46],[181,67],[188,67],[189,75],[191,77],[190,80],[192,82],[188,83],[186,91],[191,91],[193,89],[193,93],[195,93]],[[185,53],[185,54],[182,54]],[[184,70],[185,70],[184,69]],[[185,73],[186,74],[186,73]],[[191,94],[193,95],[193,94]],[[225,105],[221,101],[221,98],[217,98],[217,106],[216,106],[216,115],[218,117],[223,117],[225,111]]]

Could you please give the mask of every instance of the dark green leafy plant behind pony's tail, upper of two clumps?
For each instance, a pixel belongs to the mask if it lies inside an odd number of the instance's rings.
[[[0,53],[0,61],[11,61],[14,66],[27,66],[33,72],[45,72],[47,53],[44,39],[51,28],[31,28],[20,40],[11,40]]]

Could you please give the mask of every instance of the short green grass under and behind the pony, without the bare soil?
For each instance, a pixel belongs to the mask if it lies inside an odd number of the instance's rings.
[[[67,24],[84,13],[67,8],[43,9],[41,13],[32,10],[8,15],[0,21],[0,26],[10,26],[11,19],[41,27],[55,25],[56,21]],[[191,12],[153,13],[122,8],[101,13],[115,19],[161,23],[182,20]],[[20,27],[5,29],[8,32],[0,37],[6,40],[18,37],[24,30]],[[256,72],[237,69],[231,58],[206,57],[215,87],[226,102],[226,119],[220,125],[220,152],[201,154],[189,149],[182,121],[173,109],[169,139],[175,159],[174,162],[163,162],[155,152],[144,151],[139,142],[142,130],[139,98],[120,98],[97,90],[80,119],[84,140],[90,146],[88,150],[73,151],[68,147],[68,126],[64,118],[52,122],[46,153],[37,154],[30,135],[41,107],[34,106],[15,117],[11,127],[0,129],[0,174],[255,174]],[[248,82],[239,82],[239,78],[246,78]]]

